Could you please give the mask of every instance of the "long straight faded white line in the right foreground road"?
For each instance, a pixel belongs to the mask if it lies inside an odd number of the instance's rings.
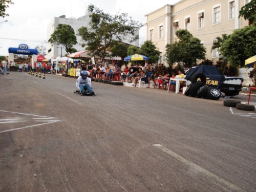
[[[205,174],[206,176],[208,177],[213,177],[215,178],[217,181],[219,181],[220,183],[226,185],[227,187],[229,187],[230,189],[234,190],[234,191],[240,191],[240,192],[245,192],[245,190],[243,190],[242,188],[232,184],[232,183],[229,183],[228,181],[220,178],[219,176],[217,175],[214,175],[212,174],[211,172],[209,172],[208,170],[206,170],[205,168],[203,167],[200,167],[199,165],[179,156],[177,153],[173,152],[173,151],[170,151],[168,150],[168,148],[160,145],[160,144],[153,144],[155,147],[159,148],[161,151],[163,151],[164,153],[174,157],[175,159],[179,160],[180,162],[186,164],[187,166],[189,166],[189,168],[193,168],[195,170],[197,170],[198,172],[200,173],[203,173]]]

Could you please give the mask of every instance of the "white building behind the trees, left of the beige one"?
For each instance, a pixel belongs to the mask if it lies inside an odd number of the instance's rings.
[[[75,35],[77,34],[77,30],[79,28],[83,27],[90,27],[89,26],[89,22],[90,22],[90,13],[87,12],[86,15],[79,17],[78,19],[76,19],[75,17],[70,17],[70,18],[66,18],[65,15],[62,15],[60,17],[54,17],[54,19],[51,21],[51,23],[48,25],[47,28],[47,39],[49,40],[51,38],[51,34],[54,32],[54,30],[57,29],[58,24],[65,24],[65,25],[70,25],[74,31],[75,31]],[[136,35],[139,35],[139,30],[137,31]],[[77,51],[84,51],[85,48],[82,48],[82,46],[80,46],[80,44],[82,43],[81,37],[80,36],[76,36],[77,38],[77,45],[75,45],[73,48],[76,49]],[[129,39],[129,38],[127,38]],[[128,40],[123,41],[127,44],[131,44]],[[131,45],[134,46],[139,46],[139,39],[137,39],[135,42],[133,42]],[[61,49],[62,47],[62,49]],[[62,54],[61,54],[62,52]],[[64,56],[67,54],[67,52],[65,51],[65,48],[63,48],[63,46],[61,45],[53,45],[51,46],[51,44],[47,43],[46,44],[46,58],[48,59],[54,59],[58,56]]]

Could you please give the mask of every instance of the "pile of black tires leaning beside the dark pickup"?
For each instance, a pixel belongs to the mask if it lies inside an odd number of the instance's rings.
[[[206,76],[203,73],[196,73],[190,78],[191,84],[185,91],[186,96],[218,100],[221,91],[217,88],[209,88],[206,83]]]

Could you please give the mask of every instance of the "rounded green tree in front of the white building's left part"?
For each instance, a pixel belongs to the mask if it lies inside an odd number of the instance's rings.
[[[51,45],[62,45],[67,53],[72,53],[73,46],[77,44],[75,31],[70,25],[59,24],[49,39]]]

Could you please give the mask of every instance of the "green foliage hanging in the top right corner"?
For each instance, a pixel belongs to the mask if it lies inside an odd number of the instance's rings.
[[[248,19],[249,26],[256,22],[256,0],[251,0],[241,8],[238,18],[240,17],[244,17],[245,20]]]

